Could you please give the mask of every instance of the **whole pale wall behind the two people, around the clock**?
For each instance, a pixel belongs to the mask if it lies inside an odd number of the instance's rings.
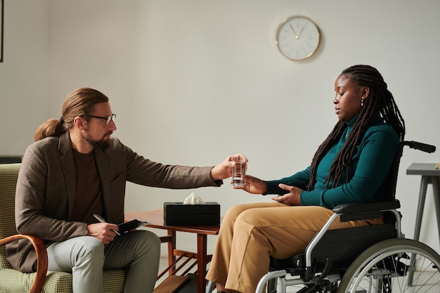
[[[6,0],[0,154],[24,152],[34,129],[59,117],[68,92],[91,86],[110,97],[115,136],[145,157],[211,165],[242,152],[248,174],[289,176],[311,162],[337,121],[334,81],[358,63],[382,72],[406,119],[406,138],[440,147],[439,10],[435,0]],[[310,60],[292,62],[276,50],[276,28],[291,15],[321,29]],[[406,150],[402,159],[407,237],[420,177],[406,168],[440,162],[439,153]],[[130,184],[126,211],[160,209],[190,191]],[[238,202],[269,200],[228,182],[196,193],[219,202],[222,214]],[[182,248],[193,247],[182,237]],[[431,189],[421,240],[439,251]]]

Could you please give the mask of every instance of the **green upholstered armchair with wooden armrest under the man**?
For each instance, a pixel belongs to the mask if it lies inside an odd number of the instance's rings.
[[[41,238],[18,234],[15,228],[15,185],[20,164],[0,164],[0,292],[70,293],[72,274],[47,271],[47,252]],[[36,273],[15,271],[6,260],[5,245],[26,238],[37,252]],[[127,270],[104,271],[105,293],[124,292]]]

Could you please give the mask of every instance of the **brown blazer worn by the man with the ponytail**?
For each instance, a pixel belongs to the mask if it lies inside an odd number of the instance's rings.
[[[160,188],[220,186],[212,181],[212,167],[165,165],[150,161],[112,138],[110,148],[95,150],[101,177],[103,201],[109,223],[124,221],[127,181]],[[70,221],[75,197],[75,164],[68,132],[48,137],[25,151],[15,193],[15,223],[18,233],[37,235],[46,244],[82,236],[86,223]],[[27,240],[6,245],[13,268],[31,272],[36,260]]]

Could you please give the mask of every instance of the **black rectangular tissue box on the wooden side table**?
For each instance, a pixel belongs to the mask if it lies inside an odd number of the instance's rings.
[[[164,222],[169,226],[219,226],[220,204],[183,204],[164,202]]]

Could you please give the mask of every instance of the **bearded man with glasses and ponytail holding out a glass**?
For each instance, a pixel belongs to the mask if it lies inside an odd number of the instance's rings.
[[[103,292],[103,270],[119,268],[129,268],[125,293],[153,292],[159,237],[147,230],[117,236],[127,181],[159,188],[220,186],[234,164],[232,156],[214,167],[150,161],[112,137],[115,117],[103,93],[72,91],[61,118],[39,126],[20,167],[17,230],[46,242],[48,270],[72,273],[75,293]],[[6,254],[13,268],[35,271],[35,252],[26,240],[7,245]]]

